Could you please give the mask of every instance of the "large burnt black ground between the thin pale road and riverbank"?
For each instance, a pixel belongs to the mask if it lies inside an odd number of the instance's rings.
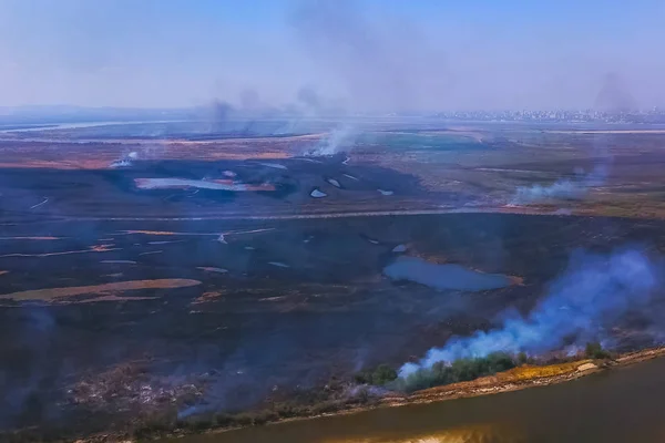
[[[489,328],[507,307],[529,311],[575,248],[601,251],[648,244],[663,251],[664,227],[662,222],[498,214],[3,225],[1,237],[62,239],[4,239],[2,255],[85,250],[100,244],[121,249],[0,258],[0,269],[9,271],[0,276],[2,293],[157,278],[202,281],[191,288],[122,295],[157,297],[154,300],[66,305],[3,300],[3,409],[20,411],[37,402],[37,395],[44,403],[42,415],[23,416],[23,424],[62,420],[57,406],[62,387],[127,361],[146,361],[156,374],[217,371],[227,377],[228,387],[218,398],[234,405],[241,404],[238,399],[258,402],[275,387],[310,388],[330,375],[348,377],[379,362],[397,365],[451,334]],[[217,241],[218,233],[255,229],[270,230],[226,235],[227,244]],[[408,245],[409,254],[521,276],[524,286],[459,293],[390,282],[381,269],[395,257],[391,249],[398,244]],[[141,255],[155,250],[162,253]],[[209,291],[222,295],[193,303]],[[656,302],[654,316],[663,309]],[[634,322],[643,328],[648,319]],[[17,416],[7,416],[6,425],[16,424]]]

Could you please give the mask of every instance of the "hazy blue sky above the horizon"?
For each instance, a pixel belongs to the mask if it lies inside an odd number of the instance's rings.
[[[655,0],[0,0],[0,105],[665,105]]]

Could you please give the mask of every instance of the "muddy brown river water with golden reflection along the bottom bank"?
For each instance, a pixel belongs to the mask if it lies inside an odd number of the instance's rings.
[[[569,383],[178,439],[181,443],[664,442],[665,359]],[[170,441],[170,443],[173,441]]]

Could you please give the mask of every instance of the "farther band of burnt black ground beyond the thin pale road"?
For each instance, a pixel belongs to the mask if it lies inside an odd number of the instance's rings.
[[[423,190],[415,176],[377,166],[347,166],[344,159],[335,156],[317,161],[137,161],[129,168],[116,169],[2,168],[1,218],[22,223],[40,222],[40,217],[182,218],[238,213],[293,214],[307,205],[311,210],[327,210],[335,205],[367,208],[395,207],[400,202],[428,198],[459,200],[457,195]],[[236,174],[237,182],[269,184],[275,190],[137,189],[134,182],[136,178],[228,179],[224,175],[227,171]],[[341,188],[328,183],[328,178],[337,179]],[[327,197],[310,197],[314,188],[321,189]],[[379,188],[395,194],[381,196]],[[45,198],[49,200],[40,205]]]

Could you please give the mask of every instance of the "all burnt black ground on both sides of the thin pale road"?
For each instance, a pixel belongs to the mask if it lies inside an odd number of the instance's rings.
[[[66,422],[69,410],[61,402],[69,384],[133,361],[161,375],[215,371],[223,380],[219,408],[250,405],[378,363],[397,367],[452,334],[490,328],[509,307],[526,312],[574,249],[646,245],[665,251],[665,223],[657,220],[500,214],[222,219],[432,207],[432,202],[467,198],[426,192],[413,176],[346,166],[344,159],[2,169],[0,271],[8,272],[0,275],[0,296],[164,278],[202,284],[119,295],[152,300],[0,299],[1,426]],[[275,184],[277,192],[139,190],[133,184],[143,177],[223,178],[224,171],[246,183]],[[330,177],[340,189],[326,182]],[[328,197],[309,197],[314,187]],[[381,196],[377,188],[395,195]],[[137,230],[153,234],[127,234]],[[16,238],[45,236],[58,239]],[[117,250],[91,251],[102,245]],[[397,245],[407,245],[410,255],[519,276],[524,284],[463,293],[391,282],[381,270],[396,257]],[[58,255],[66,251],[80,253]],[[135,264],[102,262],[108,260]],[[206,292],[218,296],[196,302]],[[663,313],[656,299],[653,316]],[[631,321],[627,327],[642,330],[652,319]],[[631,340],[624,344],[644,344]]]

